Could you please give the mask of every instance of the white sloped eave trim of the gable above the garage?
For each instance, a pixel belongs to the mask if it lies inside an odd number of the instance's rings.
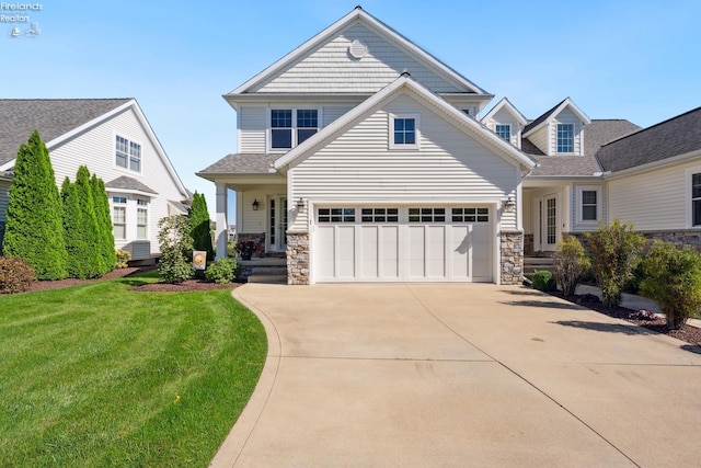
[[[327,140],[332,139],[337,133],[342,132],[346,126],[353,124],[355,121],[361,118],[367,113],[370,113],[382,103],[389,101],[391,98],[400,92],[412,92],[413,95],[421,100],[424,100],[427,104],[432,105],[434,110],[439,111],[449,118],[456,121],[463,129],[471,136],[478,138],[482,142],[496,149],[503,157],[512,159],[517,162],[521,168],[532,169],[536,165],[536,161],[528,155],[514,147],[512,144],[504,141],[496,134],[491,132],[484,125],[480,124],[472,117],[469,117],[464,113],[458,111],[452,105],[448,104],[445,100],[430,92],[427,88],[417,83],[409,73],[402,73],[391,84],[388,84],[381,91],[368,98],[361,104],[357,105],[329,126],[308,138],[304,142],[291,149],[283,157],[275,161],[275,169],[283,169],[291,164],[296,159],[308,155],[313,148],[323,146]]]

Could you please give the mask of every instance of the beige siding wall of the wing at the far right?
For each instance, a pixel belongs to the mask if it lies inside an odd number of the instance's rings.
[[[698,162],[689,162],[610,180],[609,219],[632,222],[641,231],[690,228],[690,174],[700,172]]]

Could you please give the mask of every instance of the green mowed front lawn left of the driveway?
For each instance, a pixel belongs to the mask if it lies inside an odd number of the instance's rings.
[[[0,466],[207,466],[265,332],[229,290],[128,290],[151,281],[0,296]]]

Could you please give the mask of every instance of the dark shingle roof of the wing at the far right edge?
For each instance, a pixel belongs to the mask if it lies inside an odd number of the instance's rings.
[[[604,145],[596,158],[606,172],[617,172],[696,151],[701,151],[701,107]]]

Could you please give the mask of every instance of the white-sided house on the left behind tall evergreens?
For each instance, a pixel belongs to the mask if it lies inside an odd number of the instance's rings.
[[[0,100],[0,225],[18,150],[37,129],[59,187],[80,165],[105,182],[115,248],[135,261],[160,254],[159,220],[186,214],[191,194],[136,100]]]

